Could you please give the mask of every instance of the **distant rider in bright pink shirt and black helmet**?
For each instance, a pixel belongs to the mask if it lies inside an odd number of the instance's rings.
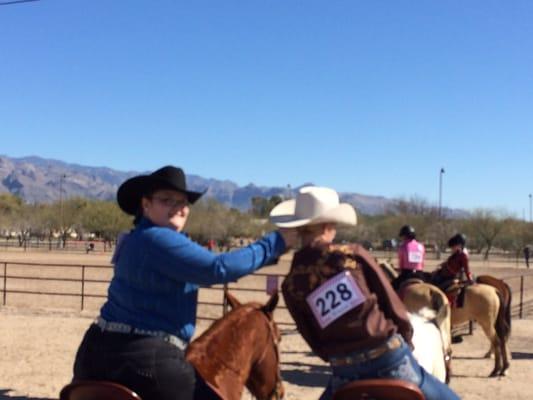
[[[422,243],[416,241],[415,229],[411,225],[402,226],[399,236],[402,239],[398,248],[400,275],[393,282],[395,289],[398,289],[406,279],[424,279],[423,270],[426,255],[426,249]]]

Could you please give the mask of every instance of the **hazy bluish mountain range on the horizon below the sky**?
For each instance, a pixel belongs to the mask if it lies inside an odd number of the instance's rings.
[[[63,161],[37,156],[13,158],[0,155],[0,193],[12,193],[29,203],[50,203],[60,198],[86,197],[114,200],[118,186],[126,179],[148,173],[146,171],[117,171],[107,167],[90,167],[69,164]],[[306,183],[305,185],[309,185]],[[256,186],[250,183],[239,186],[230,180],[203,178],[187,175],[191,190],[203,191],[219,202],[240,210],[251,206],[255,196],[270,197],[293,195],[286,186]],[[304,186],[304,185],[302,185]],[[384,213],[393,200],[382,196],[367,196],[358,193],[341,193],[341,201],[352,204],[363,214]]]

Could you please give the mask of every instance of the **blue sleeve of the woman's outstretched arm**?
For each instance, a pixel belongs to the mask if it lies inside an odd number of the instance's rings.
[[[286,248],[278,232],[249,246],[220,254],[170,229],[155,228],[147,234],[153,267],[171,279],[198,285],[235,281],[264,265],[276,263]]]

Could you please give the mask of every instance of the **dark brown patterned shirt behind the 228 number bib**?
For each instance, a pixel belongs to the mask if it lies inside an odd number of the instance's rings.
[[[354,278],[363,301],[321,328],[306,299],[343,271]],[[302,248],[294,254],[282,291],[298,331],[325,361],[379,345],[396,332],[411,342],[413,329],[405,306],[374,259],[359,245],[318,243]],[[326,311],[334,305],[332,301],[326,296]]]

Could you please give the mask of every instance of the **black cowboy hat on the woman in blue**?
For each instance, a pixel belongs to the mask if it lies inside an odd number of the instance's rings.
[[[205,193],[205,191],[192,192],[187,190],[183,170],[167,165],[150,175],[134,176],[122,183],[117,191],[118,205],[124,212],[136,215],[141,205],[141,198],[159,189],[177,190],[185,193],[191,204]]]

